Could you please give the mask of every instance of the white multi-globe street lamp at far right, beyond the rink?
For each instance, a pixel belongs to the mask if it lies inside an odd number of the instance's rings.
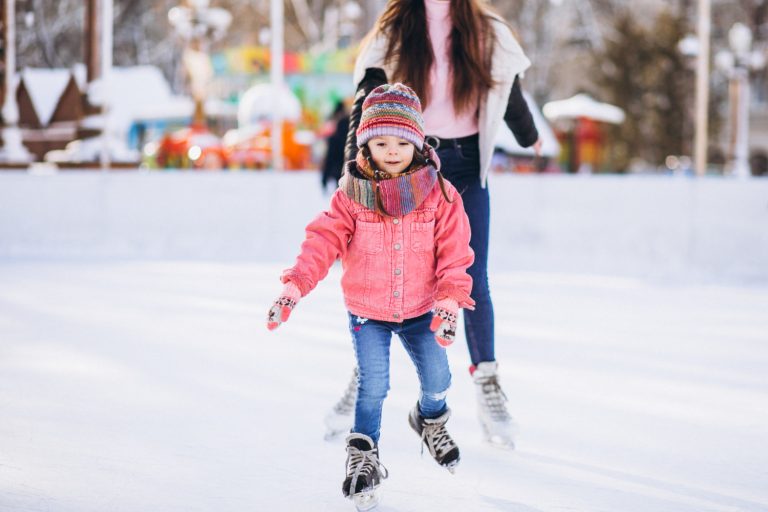
[[[735,23],[728,31],[730,51],[715,56],[717,67],[730,78],[731,173],[738,178],[751,176],[749,168],[749,72],[765,66],[765,57],[752,51],[752,31]]]

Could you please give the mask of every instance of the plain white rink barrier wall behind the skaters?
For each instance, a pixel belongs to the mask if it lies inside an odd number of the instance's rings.
[[[493,175],[490,269],[768,283],[768,180]],[[289,266],[312,172],[0,173],[0,258]]]

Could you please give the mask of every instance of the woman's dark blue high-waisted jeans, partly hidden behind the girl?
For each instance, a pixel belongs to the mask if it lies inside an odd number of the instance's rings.
[[[480,186],[480,149],[477,143],[440,146],[437,156],[443,176],[456,187],[464,201],[472,230],[470,247],[475,262],[467,273],[472,276],[472,298],[475,310],[464,310],[464,332],[472,364],[495,361],[493,338],[493,304],[488,288],[488,237],[491,201],[488,188]]]

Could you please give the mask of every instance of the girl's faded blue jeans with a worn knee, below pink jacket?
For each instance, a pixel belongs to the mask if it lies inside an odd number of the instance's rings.
[[[389,391],[389,346],[392,334],[403,343],[421,383],[419,412],[437,418],[447,405],[445,396],[451,385],[451,371],[445,349],[429,330],[432,313],[410,318],[403,323],[369,320],[349,314],[349,332],[355,345],[359,371],[355,425],[352,432],[365,434],[379,442],[381,411]]]

